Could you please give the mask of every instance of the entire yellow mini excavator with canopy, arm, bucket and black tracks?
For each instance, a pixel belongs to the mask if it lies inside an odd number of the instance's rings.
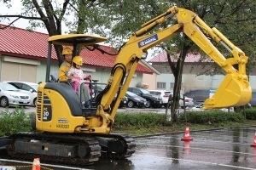
[[[175,17],[177,24],[146,34],[155,26]],[[32,127],[39,133],[14,133],[9,137],[10,156],[32,160],[87,165],[99,157],[126,158],[135,152],[134,139],[125,134],[111,133],[120,100],[136,71],[140,59],[146,59],[148,48],[180,32],[186,34],[226,72],[224,81],[205,107],[222,108],[246,105],[252,90],[246,74],[247,56],[216,28],[210,28],[197,14],[173,6],[166,13],[143,24],[120,48],[105,89],[96,98],[96,108],[83,108],[73,88],[64,82],[49,82],[52,44],[77,47],[94,46],[104,37],[86,34],[49,37],[46,81],[38,86],[38,101]],[[214,47],[224,45],[233,58],[226,59]],[[236,66],[235,66],[236,65]],[[235,66],[235,67],[234,67]],[[237,68],[237,69],[236,69]]]

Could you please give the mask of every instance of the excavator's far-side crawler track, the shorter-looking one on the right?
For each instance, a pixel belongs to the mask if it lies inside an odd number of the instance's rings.
[[[101,144],[101,140],[104,139],[108,141],[108,147],[102,146],[102,155],[103,158],[112,158],[112,159],[125,159],[132,156],[135,152],[136,144],[134,139],[126,134],[119,133],[110,133],[108,135],[97,135],[96,137]],[[115,151],[113,151],[113,147]],[[119,147],[119,149],[117,149]]]

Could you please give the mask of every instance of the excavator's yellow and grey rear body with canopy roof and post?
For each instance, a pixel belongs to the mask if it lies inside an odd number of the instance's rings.
[[[50,75],[50,60],[53,58],[51,54],[55,53],[52,52],[53,44],[73,48],[73,56],[75,56],[77,55],[77,48],[106,40],[105,37],[86,34],[49,37],[46,78],[45,82],[38,86],[37,116],[33,127],[37,130],[54,133],[81,132],[80,129],[83,129],[84,124],[86,124],[84,117],[96,116],[96,108],[84,108],[70,83],[53,81],[53,75]]]

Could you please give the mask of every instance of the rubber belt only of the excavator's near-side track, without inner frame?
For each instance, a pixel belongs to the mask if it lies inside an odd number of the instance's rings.
[[[88,150],[90,153],[87,154],[84,158],[79,157],[63,157],[63,156],[46,156],[46,155],[38,155],[38,154],[27,154],[20,153],[15,150],[15,139],[33,139],[33,140],[41,140],[44,141],[60,141],[61,143],[65,142],[68,144],[83,144],[88,146]],[[25,159],[25,160],[33,160],[35,157],[40,158],[40,161],[49,161],[55,163],[63,163],[70,165],[90,165],[95,161],[98,161],[101,156],[101,146],[98,141],[94,139],[94,137],[90,135],[76,135],[76,134],[67,134],[67,133],[14,133],[9,137],[9,144],[7,145],[7,151],[9,156]]]

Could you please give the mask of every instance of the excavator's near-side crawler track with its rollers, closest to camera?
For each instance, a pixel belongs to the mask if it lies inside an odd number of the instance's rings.
[[[49,156],[46,154],[27,153],[26,149],[15,148],[15,141],[46,141],[50,144],[75,145],[78,149],[76,156]],[[31,144],[30,144],[31,145]],[[32,146],[33,147],[33,146]],[[32,148],[32,150],[40,150],[40,148]],[[65,150],[65,148],[63,148]],[[98,141],[91,135],[86,134],[67,134],[67,133],[14,133],[9,137],[7,145],[9,156],[33,160],[35,157],[41,161],[49,161],[55,163],[63,163],[70,165],[90,165],[98,161],[101,156],[101,146]]]

